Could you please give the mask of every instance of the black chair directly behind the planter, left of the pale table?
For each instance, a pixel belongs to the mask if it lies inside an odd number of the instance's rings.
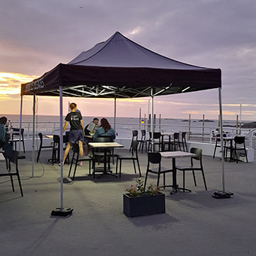
[[[144,188],[146,188],[148,173],[154,173],[157,175],[157,187],[160,183],[160,175],[163,175],[163,188],[172,187],[172,185],[166,185],[166,173],[173,172],[172,169],[166,169],[161,165],[162,156],[159,152],[148,152],[148,165],[145,175]],[[157,164],[157,167],[154,165]]]

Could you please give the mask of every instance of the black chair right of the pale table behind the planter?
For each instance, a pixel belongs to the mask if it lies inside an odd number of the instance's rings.
[[[196,154],[194,157],[190,157],[190,166],[176,166],[176,169],[183,172],[183,187],[181,188],[183,191],[187,190],[189,192],[191,192],[190,189],[185,188],[185,172],[192,172],[193,173],[193,178],[194,178],[194,184],[197,187],[197,181],[196,181],[196,175],[195,172],[196,171],[200,171],[203,175],[203,182],[205,185],[205,188],[207,190],[206,187],[206,178],[205,178],[205,174],[203,172],[203,163],[202,163],[202,149],[200,148],[191,148],[190,149],[190,153]],[[199,165],[195,165],[194,160],[199,161]]]

